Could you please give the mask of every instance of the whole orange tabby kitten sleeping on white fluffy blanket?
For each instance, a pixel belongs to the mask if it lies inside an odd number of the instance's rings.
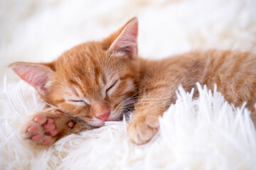
[[[217,84],[225,99],[253,111],[256,56],[250,52],[196,51],[159,61],[137,56],[138,20],[100,42],[85,42],[50,63],[16,62],[11,69],[31,84],[51,108],[36,113],[23,135],[33,145],[48,146],[61,137],[121,120],[134,108],[129,137],[141,145],[159,129],[159,116],[176,101],[179,84]],[[195,91],[198,96],[198,91]]]

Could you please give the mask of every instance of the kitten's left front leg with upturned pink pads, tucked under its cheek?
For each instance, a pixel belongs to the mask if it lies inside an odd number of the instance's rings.
[[[48,108],[28,119],[22,135],[30,145],[49,146],[65,135],[90,129],[85,123],[74,121],[58,108]]]

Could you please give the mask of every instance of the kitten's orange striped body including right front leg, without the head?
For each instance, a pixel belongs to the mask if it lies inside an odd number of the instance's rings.
[[[176,101],[179,84],[186,91],[195,89],[196,82],[212,89],[217,84],[229,103],[252,111],[255,121],[256,55],[250,52],[207,50],[188,52],[164,60],[141,60],[139,101],[129,125],[129,135],[136,143],[150,140],[159,125],[158,117]],[[143,127],[143,128],[142,128]],[[146,129],[149,129],[145,132]]]

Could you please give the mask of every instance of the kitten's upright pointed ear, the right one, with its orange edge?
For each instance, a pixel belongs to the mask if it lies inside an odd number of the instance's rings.
[[[103,43],[107,44],[109,52],[128,55],[131,59],[136,57],[138,36],[138,18],[132,18],[122,28],[110,35]]]

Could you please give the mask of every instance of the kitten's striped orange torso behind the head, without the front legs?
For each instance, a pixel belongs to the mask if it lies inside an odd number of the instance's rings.
[[[196,82],[199,82],[201,85],[206,84],[209,89],[213,89],[214,84],[217,84],[218,91],[229,103],[242,106],[242,103],[247,101],[247,108],[254,111],[255,54],[230,50],[205,50],[187,52],[159,61],[143,60],[141,63],[143,76],[140,78],[139,89],[144,89],[146,85],[149,87],[152,82],[154,89],[156,87],[163,89],[166,86],[165,92],[169,91],[171,103],[176,101],[174,89],[177,89],[179,84],[186,91],[191,91],[196,87]],[[197,96],[196,91],[194,95]]]

